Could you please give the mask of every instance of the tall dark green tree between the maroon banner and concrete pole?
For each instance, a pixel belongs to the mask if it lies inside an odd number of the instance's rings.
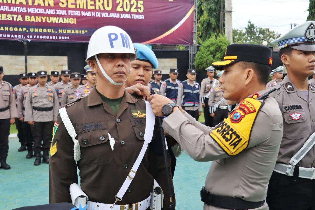
[[[197,4],[197,43],[202,44],[212,34],[220,33],[221,0],[197,0]]]

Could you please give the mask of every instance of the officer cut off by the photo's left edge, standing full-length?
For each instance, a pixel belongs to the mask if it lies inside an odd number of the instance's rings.
[[[10,124],[14,123],[17,112],[13,87],[9,82],[2,80],[3,76],[3,67],[0,66],[0,168],[10,169],[7,164],[9,132]]]

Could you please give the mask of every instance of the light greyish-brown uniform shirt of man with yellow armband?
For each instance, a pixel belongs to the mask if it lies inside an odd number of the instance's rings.
[[[258,94],[265,92],[266,90]],[[275,94],[271,96],[274,97]],[[238,106],[235,109],[237,108]],[[220,124],[218,129],[221,129]],[[251,127],[246,126],[249,129]],[[180,111],[175,111],[163,119],[163,128],[194,160],[213,161],[206,178],[205,190],[215,195],[238,197],[245,201],[265,200],[283,134],[282,116],[275,98],[264,100],[253,124],[247,148],[235,156],[229,156],[209,136],[217,128],[205,126],[187,113],[183,115]],[[222,208],[204,204],[204,209]],[[257,209],[267,210],[268,206],[265,203]]]

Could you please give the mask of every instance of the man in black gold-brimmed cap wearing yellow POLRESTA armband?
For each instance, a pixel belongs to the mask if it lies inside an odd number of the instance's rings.
[[[238,102],[215,128],[202,125],[178,107],[172,108],[168,104],[171,101],[162,96],[148,98],[154,113],[167,116],[164,130],[189,156],[213,161],[201,191],[205,210],[268,209],[267,185],[283,134],[277,102],[272,94],[266,94],[271,55],[271,49],[264,46],[231,44],[223,61],[212,64],[225,70],[219,79],[224,98]]]

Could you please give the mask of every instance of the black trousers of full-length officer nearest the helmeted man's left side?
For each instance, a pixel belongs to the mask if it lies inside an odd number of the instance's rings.
[[[34,153],[40,153],[42,151],[42,145],[43,151],[49,151],[50,142],[53,138],[53,125],[53,121],[34,122],[34,126],[31,127],[34,139]]]

